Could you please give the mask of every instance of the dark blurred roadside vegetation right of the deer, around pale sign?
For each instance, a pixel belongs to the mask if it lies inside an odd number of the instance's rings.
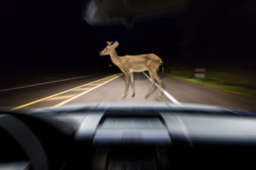
[[[205,68],[205,78],[195,78],[195,68]],[[189,82],[199,83],[208,87],[218,88],[234,94],[241,94],[256,99],[255,68],[234,66],[175,66],[164,65],[163,74],[181,78]]]

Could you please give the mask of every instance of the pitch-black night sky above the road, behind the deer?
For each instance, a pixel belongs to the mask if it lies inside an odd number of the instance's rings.
[[[105,71],[106,40],[117,52],[158,54],[175,65],[241,65],[256,56],[254,0],[194,0],[183,13],[124,25],[90,26],[82,0],[16,1],[1,33],[3,71]],[[14,12],[14,13],[12,13]]]

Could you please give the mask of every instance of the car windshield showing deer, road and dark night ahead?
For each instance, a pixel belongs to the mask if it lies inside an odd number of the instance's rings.
[[[256,111],[252,0],[20,2],[1,32],[0,106],[102,102]]]

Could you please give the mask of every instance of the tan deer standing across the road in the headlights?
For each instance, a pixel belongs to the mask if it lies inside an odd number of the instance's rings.
[[[107,47],[100,52],[101,56],[110,55],[110,58],[114,65],[117,65],[119,69],[125,74],[125,94],[123,99],[127,96],[129,77],[131,80],[132,95],[135,96],[135,87],[133,80],[133,72],[143,72],[148,71],[151,77],[151,86],[148,90],[148,93],[145,95],[145,98],[148,98],[151,93],[152,88],[154,87],[155,80],[159,83],[159,96],[158,99],[162,96],[162,80],[158,76],[157,71],[160,65],[163,64],[162,59],[156,54],[139,54],[139,55],[125,55],[119,56],[116,53],[116,49],[119,47],[119,42],[107,42]]]

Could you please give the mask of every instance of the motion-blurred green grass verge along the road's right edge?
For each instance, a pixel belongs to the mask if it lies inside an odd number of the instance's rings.
[[[164,75],[183,79],[189,82],[195,82],[201,85],[205,85],[211,88],[218,88],[233,94],[241,94],[250,96],[256,99],[256,88],[255,85],[255,76],[249,72],[237,74],[237,71],[207,71],[207,78],[195,78],[194,70],[185,71],[186,74],[180,74],[178,71],[169,71],[163,73]],[[234,81],[236,79],[237,81]]]

